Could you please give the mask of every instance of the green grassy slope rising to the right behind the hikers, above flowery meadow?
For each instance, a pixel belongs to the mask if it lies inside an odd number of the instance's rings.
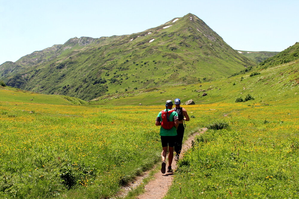
[[[96,99],[98,101],[91,101],[90,103],[112,105],[138,105],[141,103],[143,105],[152,105],[163,104],[167,99],[180,98],[182,103],[193,99],[196,104],[207,104],[221,101],[234,102],[235,98],[244,98],[247,94],[255,98],[252,103],[268,103],[269,101],[298,96],[295,94],[299,92],[298,67],[298,61],[293,61],[267,69],[253,69],[246,74],[224,78],[219,81],[130,91],[117,95],[102,96]],[[250,77],[252,72],[257,71],[261,74]],[[233,85],[234,83],[235,85]],[[206,91],[196,92],[199,90]],[[208,95],[202,97],[203,92]]]

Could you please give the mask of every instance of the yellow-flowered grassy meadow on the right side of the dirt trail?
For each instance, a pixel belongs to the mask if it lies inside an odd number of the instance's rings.
[[[289,99],[232,111],[227,129],[196,137],[165,198],[298,198],[298,108]]]

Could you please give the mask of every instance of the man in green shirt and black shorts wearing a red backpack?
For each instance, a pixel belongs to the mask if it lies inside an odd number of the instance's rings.
[[[166,155],[167,150],[169,150],[168,154],[168,169],[167,172],[172,172],[171,163],[173,159],[173,147],[176,138],[176,129],[179,125],[178,113],[172,110],[173,103],[171,100],[166,101],[166,109],[159,112],[156,118],[156,126],[160,126],[160,136],[162,143],[162,166],[161,172],[165,173],[166,171]]]

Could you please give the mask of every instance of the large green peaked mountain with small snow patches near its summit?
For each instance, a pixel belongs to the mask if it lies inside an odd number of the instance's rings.
[[[24,90],[91,100],[212,81],[253,65],[189,13],[131,35],[71,38],[1,64],[0,79]]]

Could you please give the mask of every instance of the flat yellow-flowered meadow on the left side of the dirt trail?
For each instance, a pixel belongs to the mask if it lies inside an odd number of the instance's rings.
[[[13,91],[0,92],[4,98]],[[33,95],[21,93],[24,101]],[[154,121],[163,108],[0,101],[0,198],[115,195],[160,159]],[[188,123],[189,132],[207,117],[192,114],[198,119]]]

